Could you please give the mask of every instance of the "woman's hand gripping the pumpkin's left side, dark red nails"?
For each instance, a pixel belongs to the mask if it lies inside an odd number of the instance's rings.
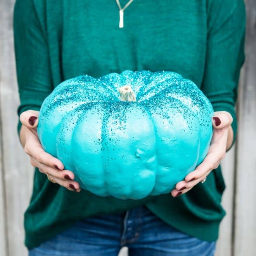
[[[73,181],[74,173],[63,170],[64,165],[59,159],[45,152],[39,141],[36,127],[38,125],[38,111],[28,110],[22,112],[20,139],[24,151],[29,155],[32,166],[38,167],[41,173],[48,175],[53,183],[66,187],[69,190],[80,192],[80,185]]]

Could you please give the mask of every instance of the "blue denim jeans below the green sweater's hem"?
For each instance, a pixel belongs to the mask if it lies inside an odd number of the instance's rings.
[[[85,218],[31,249],[29,256],[117,256],[123,246],[133,256],[213,256],[216,242],[180,232],[141,206],[124,214]]]

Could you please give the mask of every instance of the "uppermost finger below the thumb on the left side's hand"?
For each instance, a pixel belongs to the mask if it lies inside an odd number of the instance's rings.
[[[28,138],[24,146],[24,150],[29,156],[35,158],[39,163],[51,166],[57,170],[64,169],[64,165],[59,159],[53,157],[43,150],[42,145],[36,136],[31,136]]]

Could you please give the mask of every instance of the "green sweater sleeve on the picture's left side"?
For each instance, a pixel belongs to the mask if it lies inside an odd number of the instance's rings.
[[[24,3],[26,2],[26,3]],[[14,7],[14,46],[20,105],[17,113],[39,111],[52,90],[46,33],[32,0],[17,0]],[[21,122],[18,122],[18,134]]]

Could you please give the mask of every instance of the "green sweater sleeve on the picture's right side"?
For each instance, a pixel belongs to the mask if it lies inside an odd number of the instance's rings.
[[[232,145],[237,133],[235,102],[244,62],[245,24],[243,0],[209,1],[208,43],[201,90],[210,100],[214,111],[227,111],[232,115]]]

